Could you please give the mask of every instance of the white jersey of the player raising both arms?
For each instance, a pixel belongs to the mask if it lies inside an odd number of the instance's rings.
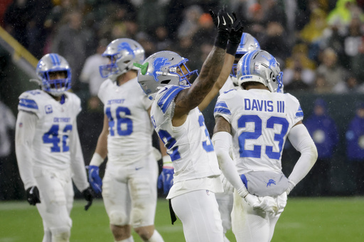
[[[174,183],[220,175],[218,159],[200,110],[192,109],[183,125],[172,126],[176,105],[173,99],[182,90],[174,85],[164,87],[151,106],[151,121],[171,156]]]

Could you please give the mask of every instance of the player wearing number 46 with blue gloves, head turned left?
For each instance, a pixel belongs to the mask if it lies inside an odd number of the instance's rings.
[[[134,62],[144,61],[144,49],[129,38],[113,40],[102,54],[99,98],[104,104],[104,126],[89,166],[95,192],[102,192],[114,241],[134,241],[132,227],[143,241],[163,241],[154,229],[158,163],[149,118],[151,100],[137,82]],[[136,70],[137,69],[137,70]],[[99,166],[107,156],[105,176]]]

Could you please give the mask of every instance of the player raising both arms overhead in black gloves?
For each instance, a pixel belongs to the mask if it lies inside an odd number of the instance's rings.
[[[215,192],[223,190],[220,169],[198,104],[218,79],[227,51],[233,59],[242,30],[240,22],[225,9],[218,16],[214,13],[212,16],[218,26],[218,36],[192,85],[188,79],[197,70],[190,72],[186,66],[188,60],[171,51],[151,55],[139,66],[138,73],[141,88],[155,100],[151,121],[166,145],[174,168],[173,186],[167,199],[171,202],[172,217],[174,211],[182,221],[186,241],[223,241],[215,199]],[[236,36],[236,32],[240,35]],[[232,38],[237,41],[228,44]],[[232,62],[228,70],[231,67]]]

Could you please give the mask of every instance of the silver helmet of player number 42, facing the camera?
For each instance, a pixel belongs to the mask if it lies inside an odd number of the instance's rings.
[[[63,79],[50,79],[51,72],[64,72]],[[41,79],[39,84],[43,91],[53,96],[61,96],[71,87],[71,69],[67,60],[58,54],[47,54],[39,60],[36,75]]]

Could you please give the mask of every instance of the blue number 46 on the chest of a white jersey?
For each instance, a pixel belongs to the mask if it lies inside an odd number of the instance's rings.
[[[115,116],[116,116],[116,128],[117,128],[117,134],[119,136],[129,136],[130,134],[133,133],[133,121],[132,119],[129,119],[129,118],[125,118],[125,117],[122,117],[120,115],[120,113],[124,113],[126,116],[127,115],[132,115],[130,109],[128,109],[127,107],[124,107],[124,106],[118,106],[117,109],[115,110]],[[109,132],[110,132],[110,136],[114,136],[115,133],[114,133],[114,126],[115,126],[115,121],[114,121],[114,118],[112,117],[112,114],[111,114],[111,108],[108,107],[106,109],[106,116],[107,116],[107,119],[109,119]],[[122,128],[122,124],[125,124],[126,126],[126,129]]]

